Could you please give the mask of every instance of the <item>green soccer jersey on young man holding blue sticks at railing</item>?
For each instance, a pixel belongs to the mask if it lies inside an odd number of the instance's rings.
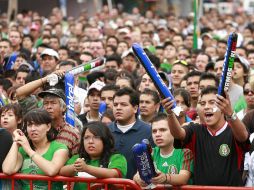
[[[193,155],[189,149],[173,149],[173,151],[163,156],[160,148],[153,149],[153,160],[155,168],[162,173],[179,174],[180,170],[187,170],[193,174]],[[188,184],[191,184],[189,180]]]

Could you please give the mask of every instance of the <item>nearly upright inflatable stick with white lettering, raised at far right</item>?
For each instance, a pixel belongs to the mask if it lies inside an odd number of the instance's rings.
[[[228,91],[230,85],[235,60],[236,43],[237,34],[231,33],[228,37],[227,51],[224,58],[221,79],[218,88],[218,94],[224,97],[226,97],[224,91]]]

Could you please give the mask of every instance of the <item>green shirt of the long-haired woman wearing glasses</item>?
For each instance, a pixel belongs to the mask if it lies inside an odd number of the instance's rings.
[[[70,158],[70,160],[67,161],[66,165],[74,164],[74,162],[77,160],[79,156],[74,155]],[[102,167],[99,165],[99,160],[90,160],[87,162],[87,165],[95,166],[95,167]],[[121,172],[122,177],[124,178],[127,173],[127,161],[125,157],[121,154],[113,154],[109,158],[109,169],[118,169],[118,171]],[[74,190],[84,190],[87,189],[86,183],[75,183]]]

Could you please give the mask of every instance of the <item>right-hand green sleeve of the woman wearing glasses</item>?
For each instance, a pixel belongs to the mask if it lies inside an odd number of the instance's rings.
[[[109,159],[108,164],[109,169],[116,169],[122,178],[125,178],[127,174],[127,161],[125,157],[121,154],[114,154]]]

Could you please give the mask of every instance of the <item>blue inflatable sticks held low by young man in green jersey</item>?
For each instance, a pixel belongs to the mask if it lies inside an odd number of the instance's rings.
[[[157,175],[151,156],[151,150],[150,143],[147,139],[143,139],[140,144],[135,144],[132,147],[140,178],[148,185],[152,185],[151,179]]]

